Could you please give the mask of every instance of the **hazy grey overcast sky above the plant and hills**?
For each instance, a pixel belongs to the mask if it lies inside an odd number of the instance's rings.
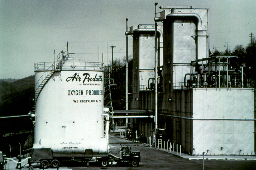
[[[125,24],[154,24],[154,3],[210,9],[210,50],[213,45],[232,51],[236,45],[256,36],[255,0],[0,0],[0,79],[20,79],[34,74],[34,63],[54,61],[66,51],[76,59],[106,64],[125,56]],[[158,12],[161,12],[158,9]],[[129,54],[132,37],[129,36]],[[108,46],[107,46],[108,42]]]

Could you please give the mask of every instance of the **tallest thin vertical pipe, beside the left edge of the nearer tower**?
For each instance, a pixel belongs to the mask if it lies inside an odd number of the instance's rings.
[[[157,2],[155,3],[155,18],[157,17]],[[155,134],[157,133],[157,22],[155,22]]]

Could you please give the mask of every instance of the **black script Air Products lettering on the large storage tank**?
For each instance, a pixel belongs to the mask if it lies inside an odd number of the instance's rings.
[[[83,83],[85,81],[87,82],[102,82],[103,79],[102,79],[102,75],[100,74],[100,76],[97,76],[97,74],[95,74],[95,77],[94,78],[91,78],[90,77],[90,74],[89,73],[83,73]],[[77,82],[81,82],[82,81],[82,78],[79,76],[79,74],[76,72],[72,77],[68,77],[66,79],[67,82],[69,82],[70,80],[72,80],[72,82],[74,82],[74,80]]]

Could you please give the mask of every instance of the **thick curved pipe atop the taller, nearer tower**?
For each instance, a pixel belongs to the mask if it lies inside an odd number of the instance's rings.
[[[202,19],[200,18],[200,16],[198,14],[195,14],[195,13],[170,13],[168,15],[166,15],[166,18],[167,17],[172,17],[172,18],[194,18],[197,20],[197,24],[196,24],[196,27],[197,27],[197,31],[202,31],[203,28],[202,28]]]

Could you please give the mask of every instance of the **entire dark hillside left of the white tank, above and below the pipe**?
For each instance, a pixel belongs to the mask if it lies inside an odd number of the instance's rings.
[[[34,76],[0,80],[0,117],[26,115],[33,106]],[[34,127],[30,117],[0,119],[0,151],[8,157],[17,156],[33,146]],[[11,146],[11,152],[10,152]],[[26,152],[22,152],[25,154]]]

